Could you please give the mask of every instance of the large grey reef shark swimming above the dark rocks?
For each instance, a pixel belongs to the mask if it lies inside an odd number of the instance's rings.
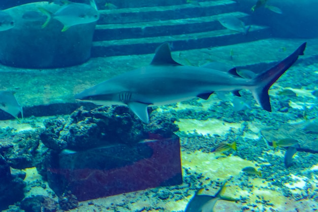
[[[97,84],[75,95],[75,99],[99,105],[126,105],[144,123],[149,122],[147,107],[177,103],[199,97],[207,100],[217,91],[240,96],[249,89],[263,109],[271,111],[268,89],[303,55],[306,43],[276,66],[252,79],[211,67],[182,66],[171,57],[168,43],[159,46],[149,66],[142,67]]]

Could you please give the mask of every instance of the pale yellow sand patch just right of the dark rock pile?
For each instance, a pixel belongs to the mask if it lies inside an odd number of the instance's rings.
[[[197,132],[202,135],[225,135],[230,128],[240,129],[242,127],[242,123],[227,123],[215,118],[207,120],[179,119],[175,124],[178,125],[180,131],[185,133]]]

